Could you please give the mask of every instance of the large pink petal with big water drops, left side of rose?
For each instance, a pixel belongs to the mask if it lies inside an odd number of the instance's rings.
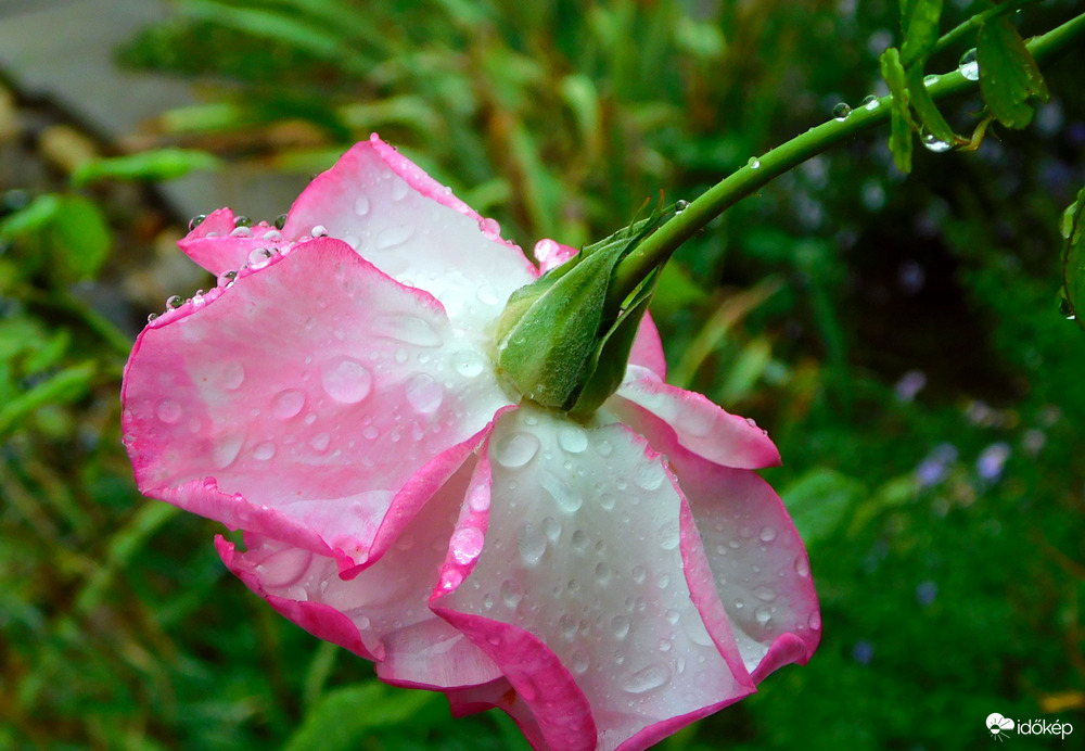
[[[144,494],[229,526],[360,562],[404,483],[508,404],[481,334],[336,240],[213,292],[140,335],[124,429]],[[227,502],[174,492],[207,478]]]

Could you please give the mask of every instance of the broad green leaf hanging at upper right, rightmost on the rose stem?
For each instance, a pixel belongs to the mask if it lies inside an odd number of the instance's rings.
[[[1032,122],[1029,100],[1048,100],[1047,84],[1017,27],[1005,16],[980,26],[975,44],[980,65],[980,92],[992,114],[1007,128],[1023,128]]]

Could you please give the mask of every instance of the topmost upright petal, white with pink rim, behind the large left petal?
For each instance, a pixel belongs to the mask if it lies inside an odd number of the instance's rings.
[[[283,232],[308,234],[318,225],[388,276],[430,292],[457,326],[476,330],[538,273],[496,222],[375,136],[309,183]]]

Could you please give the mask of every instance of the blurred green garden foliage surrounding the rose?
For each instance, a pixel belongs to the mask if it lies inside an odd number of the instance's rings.
[[[1042,33],[1077,4],[1018,23]],[[947,2],[943,29],[987,7]],[[229,576],[218,525],[137,494],[128,349],[167,294],[214,285],[169,250],[188,217],[155,179],[259,169],[301,187],[376,130],[525,249],[578,245],[884,93],[897,3],[171,8],[115,51],[200,85],[141,133],[150,156],[93,161],[117,152],[78,128],[58,145],[66,113],[0,96],[0,748],[525,748],[497,713],[452,721],[439,695],[378,684]],[[992,712],[1085,735],[1085,334],[1057,304],[1083,66],[1080,48],[1042,66],[1052,98],[1027,129],[920,149],[909,176],[888,128],[842,144],[668,267],[652,311],[669,380],[777,441],[784,466],[765,475],[825,626],[808,666],[661,748],[986,748]],[[981,109],[943,107],[963,132]]]

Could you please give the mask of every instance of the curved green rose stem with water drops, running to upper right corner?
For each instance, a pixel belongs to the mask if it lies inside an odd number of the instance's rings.
[[[955,34],[950,31],[950,34]],[[1057,26],[1047,34],[1027,42],[1029,52],[1041,60],[1068,47],[1075,38],[1085,35],[1085,13]],[[941,42],[940,42],[941,43]],[[979,86],[959,71],[943,74],[927,90],[933,99],[942,99]],[[614,283],[607,298],[607,309],[617,309],[637,288],[640,280],[667,262],[671,255],[714,218],[740,200],[755,192],[774,178],[797,167],[830,147],[857,133],[885,123],[892,110],[892,97],[882,97],[878,106],[856,107],[844,119],[832,119],[810,128],[732,173],[690,202],[655,232],[646,238],[615,271]],[[756,164],[757,166],[753,166]]]

